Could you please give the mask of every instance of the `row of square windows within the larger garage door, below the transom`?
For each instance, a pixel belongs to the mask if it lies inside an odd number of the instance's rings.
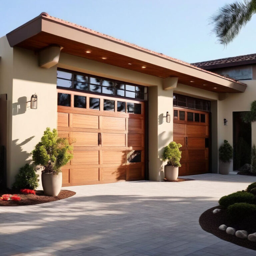
[[[58,93],[58,105],[70,107],[71,106],[71,94]],[[74,107],[75,108],[86,108],[86,96],[74,95]],[[100,99],[89,97],[89,108],[94,109],[94,110],[100,110]],[[125,109],[126,109],[126,113],[141,114],[141,104],[131,103],[131,102],[127,102],[125,104],[124,101],[117,101],[117,111],[125,112]],[[115,110],[115,101],[104,99],[103,100],[103,110],[114,111]]]

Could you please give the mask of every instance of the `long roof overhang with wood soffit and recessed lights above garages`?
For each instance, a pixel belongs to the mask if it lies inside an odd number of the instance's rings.
[[[244,92],[246,89],[246,85],[240,82],[59,20],[46,13],[6,36],[11,47],[40,51],[51,45],[61,45],[63,53],[161,78],[178,77],[179,83],[218,93]]]

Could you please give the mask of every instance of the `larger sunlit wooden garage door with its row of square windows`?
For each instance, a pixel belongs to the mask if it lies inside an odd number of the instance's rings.
[[[58,133],[75,140],[62,186],[142,180],[145,102],[58,89]]]

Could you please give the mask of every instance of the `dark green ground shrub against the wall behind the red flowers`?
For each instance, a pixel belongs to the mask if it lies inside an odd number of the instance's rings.
[[[25,166],[20,168],[20,172],[15,176],[15,182],[12,185],[13,189],[36,189],[38,184],[39,175],[32,165],[25,164]]]

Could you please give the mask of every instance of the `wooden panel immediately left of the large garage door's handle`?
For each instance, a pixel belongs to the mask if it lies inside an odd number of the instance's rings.
[[[71,139],[74,139],[74,147],[98,146],[98,133],[95,132],[70,132]]]

